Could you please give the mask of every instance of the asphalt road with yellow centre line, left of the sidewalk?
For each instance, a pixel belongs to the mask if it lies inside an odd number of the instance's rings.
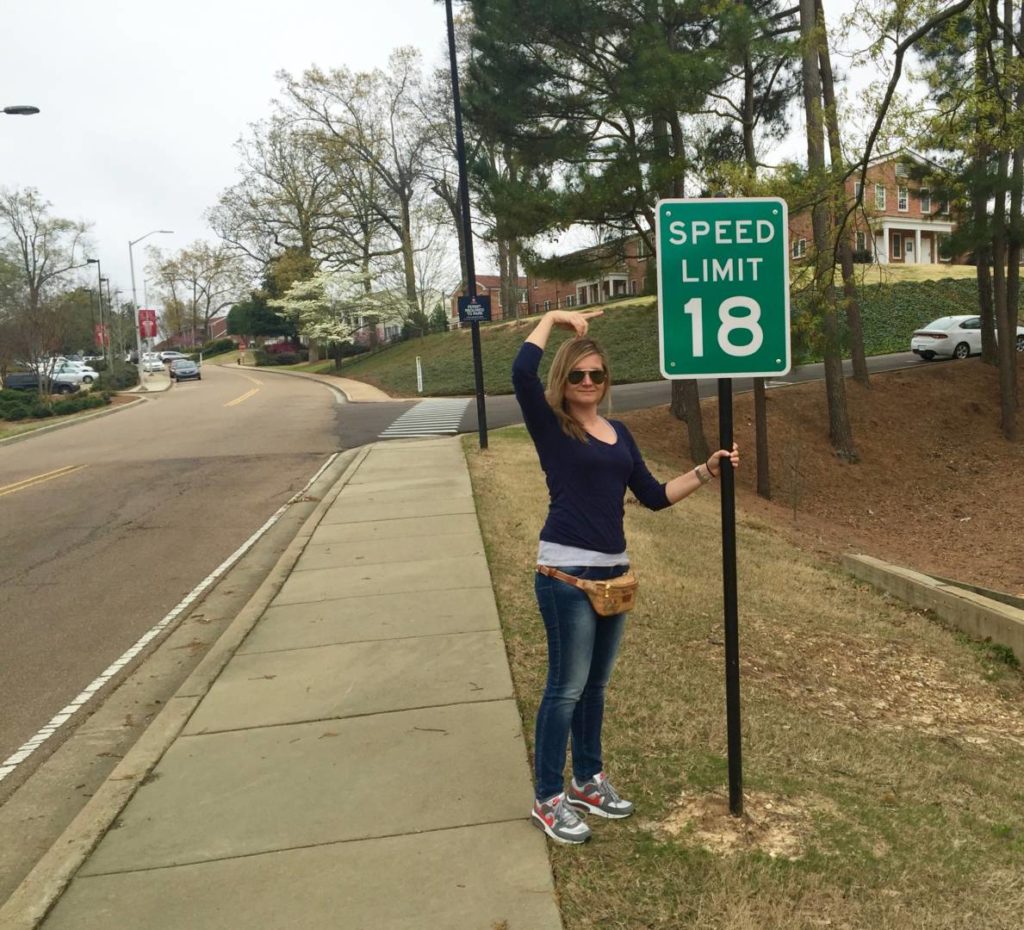
[[[0,446],[0,761],[305,485],[340,410],[315,383],[206,366]]]

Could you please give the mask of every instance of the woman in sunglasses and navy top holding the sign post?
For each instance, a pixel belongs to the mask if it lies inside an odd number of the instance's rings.
[[[633,813],[604,773],[601,723],[604,691],[626,625],[626,615],[599,617],[586,593],[542,574],[556,568],[604,581],[629,569],[623,501],[629,488],[651,510],[681,501],[717,477],[721,460],[733,467],[739,453],[719,450],[706,464],[659,483],[647,470],[625,424],[606,420],[598,405],[611,385],[604,350],[588,339],[601,310],[545,313],[519,349],[512,383],[526,428],[548,480],[551,502],[538,550],[537,601],[548,636],[548,682],[537,714],[534,743],[537,799],[531,822],[559,843],[586,843],[590,828],[579,811],[617,819]],[[575,333],[555,353],[548,389],[538,377],[554,327]],[[572,780],[562,778],[572,741]]]

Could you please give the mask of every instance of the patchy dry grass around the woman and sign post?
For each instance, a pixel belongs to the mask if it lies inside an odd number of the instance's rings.
[[[465,440],[527,747],[547,495],[522,428]],[[670,472],[650,463],[656,474]],[[606,762],[638,814],[550,849],[567,930],[1016,928],[1024,679],[920,611],[738,524],[746,816],[726,809],[718,498],[627,507],[640,603]],[[594,820],[595,818],[591,818]]]

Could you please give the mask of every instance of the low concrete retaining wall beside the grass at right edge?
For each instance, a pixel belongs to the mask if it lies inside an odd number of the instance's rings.
[[[1017,659],[1024,663],[1024,609],[869,555],[845,555],[843,567],[855,578],[908,604],[934,610],[946,623],[970,636],[989,639],[1013,649]]]

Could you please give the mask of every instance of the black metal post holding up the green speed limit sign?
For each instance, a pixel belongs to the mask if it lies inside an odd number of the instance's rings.
[[[720,448],[732,449],[732,380],[718,380]],[[725,603],[725,717],[729,748],[729,811],[743,812],[739,728],[739,609],[736,599],[736,483],[732,463],[720,459],[722,479],[722,593]]]

